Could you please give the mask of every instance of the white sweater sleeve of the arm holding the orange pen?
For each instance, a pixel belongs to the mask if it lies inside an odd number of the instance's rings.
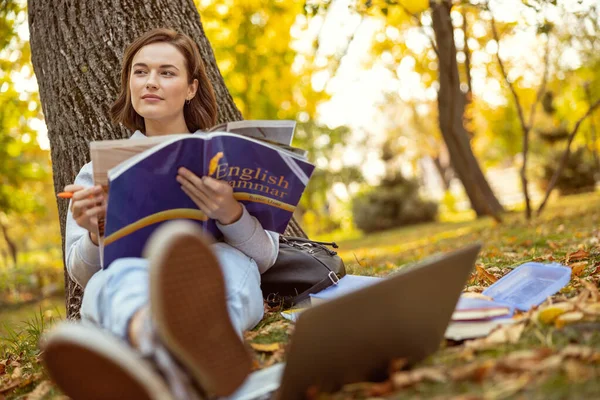
[[[75,178],[76,185],[93,186],[92,163],[81,168]],[[85,288],[88,281],[101,268],[100,248],[90,239],[89,232],[77,225],[71,214],[71,203],[67,212],[65,229],[65,261],[71,279]]]

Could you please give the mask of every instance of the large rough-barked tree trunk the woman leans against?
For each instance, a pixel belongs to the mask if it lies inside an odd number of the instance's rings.
[[[192,0],[29,0],[32,61],[50,139],[54,188],[73,182],[89,161],[91,140],[121,139],[129,132],[110,122],[127,44],[156,27],[190,35],[198,43],[217,97],[218,122],[242,116],[225,87]],[[63,237],[67,202],[58,201]],[[306,236],[293,221],[290,234]],[[65,270],[67,316],[77,318],[81,288]]]

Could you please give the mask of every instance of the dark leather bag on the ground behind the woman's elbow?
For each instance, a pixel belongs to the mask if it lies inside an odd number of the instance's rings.
[[[335,243],[280,236],[275,264],[261,277],[263,297],[271,306],[288,308],[309,299],[346,275],[344,262],[333,250]]]

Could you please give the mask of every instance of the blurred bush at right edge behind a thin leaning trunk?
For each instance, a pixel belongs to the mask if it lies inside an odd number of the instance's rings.
[[[547,189],[550,179],[560,164],[562,151],[551,153],[543,164],[543,176],[540,187]],[[571,153],[563,173],[556,182],[561,195],[591,192],[596,187],[596,166],[593,157],[585,147],[579,147]]]

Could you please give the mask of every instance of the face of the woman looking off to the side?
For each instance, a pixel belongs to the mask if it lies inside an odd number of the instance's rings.
[[[152,43],[133,57],[129,90],[134,110],[144,119],[168,122],[181,118],[198,81],[188,84],[183,54],[169,43]]]

